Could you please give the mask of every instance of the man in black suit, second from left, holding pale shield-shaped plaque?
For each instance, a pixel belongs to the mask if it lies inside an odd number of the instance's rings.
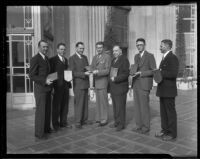
[[[57,55],[50,58],[51,72],[57,72],[58,79],[53,82],[52,125],[55,131],[59,128],[71,128],[67,123],[70,82],[64,80],[64,71],[68,69],[67,59],[64,57],[65,44],[57,45]]]

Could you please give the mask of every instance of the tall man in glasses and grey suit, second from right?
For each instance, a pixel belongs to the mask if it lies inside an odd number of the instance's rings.
[[[150,131],[150,108],[149,94],[153,86],[153,72],[156,69],[154,55],[145,50],[145,40],[136,40],[136,47],[139,51],[134,61],[137,65],[137,78],[133,80],[135,122],[133,131],[147,133]]]

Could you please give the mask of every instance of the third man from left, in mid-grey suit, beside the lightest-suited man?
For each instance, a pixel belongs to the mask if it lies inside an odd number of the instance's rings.
[[[85,67],[89,64],[83,52],[83,42],[77,42],[76,53],[69,58],[69,66],[73,75],[75,127],[78,129],[88,124],[89,72]]]

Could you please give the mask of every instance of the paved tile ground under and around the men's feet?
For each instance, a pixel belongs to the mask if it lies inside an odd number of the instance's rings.
[[[179,90],[176,98],[178,116],[178,138],[175,142],[165,142],[155,138],[160,130],[159,99],[155,88],[150,95],[151,130],[143,135],[132,132],[134,125],[133,101],[127,103],[126,129],[116,132],[109,125],[84,126],[81,130],[62,129],[50,134],[47,140],[34,137],[34,109],[7,111],[7,153],[150,153],[172,156],[197,156],[197,89]],[[70,97],[68,121],[73,124],[73,97]],[[89,120],[94,121],[95,103],[89,104]],[[109,124],[113,122],[112,105],[109,106]]]

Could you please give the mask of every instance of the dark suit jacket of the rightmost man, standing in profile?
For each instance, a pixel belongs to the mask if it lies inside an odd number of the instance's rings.
[[[177,96],[176,78],[178,75],[179,62],[176,55],[169,52],[164,60],[161,61],[162,81],[158,84],[156,96],[175,97]]]

